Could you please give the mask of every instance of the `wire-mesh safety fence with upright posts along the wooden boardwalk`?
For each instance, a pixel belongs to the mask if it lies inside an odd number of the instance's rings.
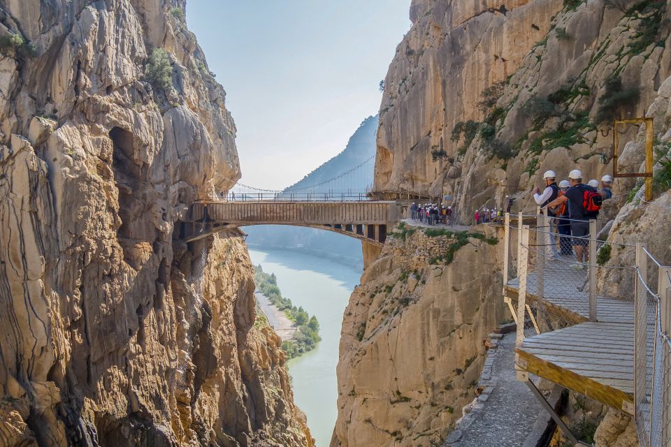
[[[582,229],[579,236],[560,228],[571,224]],[[524,321],[518,346],[526,337],[588,321],[632,332],[640,445],[671,447],[671,268],[641,244],[598,240],[597,234],[596,221],[506,215],[504,291],[517,295],[517,307],[510,298],[507,304],[514,319]],[[635,263],[615,265],[609,255],[617,250],[635,253]],[[577,251],[584,252],[581,258]]]

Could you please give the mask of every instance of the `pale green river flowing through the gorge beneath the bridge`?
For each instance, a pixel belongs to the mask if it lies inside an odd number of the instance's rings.
[[[317,447],[328,447],[338,414],[338,344],[342,314],[349,295],[359,284],[361,271],[297,251],[250,249],[254,265],[275,273],[282,295],[317,316],[322,341],[317,348],[289,360],[294,400],[308,416],[308,427]]]

